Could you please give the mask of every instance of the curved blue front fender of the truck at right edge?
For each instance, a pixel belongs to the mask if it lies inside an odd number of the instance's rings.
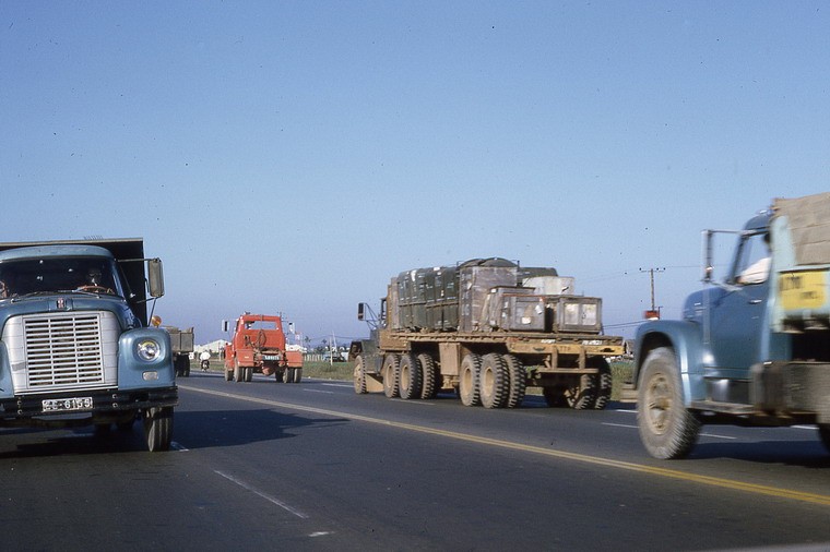
[[[706,398],[702,343],[700,325],[692,322],[661,320],[642,324],[635,338],[635,389],[639,387],[640,371],[649,352],[659,347],[671,347],[677,358],[686,406]]]

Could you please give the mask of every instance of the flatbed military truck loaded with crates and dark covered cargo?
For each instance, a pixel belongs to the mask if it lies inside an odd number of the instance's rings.
[[[380,315],[358,305],[370,337],[349,349],[355,392],[454,391],[466,406],[514,408],[536,386],[549,406],[605,408],[607,359],[624,352],[622,338],[603,334],[602,300],[573,286],[554,268],[499,257],[403,272]]]

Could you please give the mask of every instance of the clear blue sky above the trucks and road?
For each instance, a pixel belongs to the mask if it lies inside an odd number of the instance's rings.
[[[0,0],[0,241],[143,237],[165,324],[367,334],[399,272],[555,266],[630,336],[700,231],[830,190],[825,2]]]

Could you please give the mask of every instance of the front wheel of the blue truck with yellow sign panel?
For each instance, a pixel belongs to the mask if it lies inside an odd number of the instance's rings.
[[[649,352],[637,392],[637,425],[645,449],[655,458],[687,456],[698,440],[700,421],[686,409],[674,350]]]

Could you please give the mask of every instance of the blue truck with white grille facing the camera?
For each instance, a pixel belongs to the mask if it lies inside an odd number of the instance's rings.
[[[141,418],[167,451],[178,403],[170,337],[149,324],[162,262],[140,238],[0,243],[0,428]]]

